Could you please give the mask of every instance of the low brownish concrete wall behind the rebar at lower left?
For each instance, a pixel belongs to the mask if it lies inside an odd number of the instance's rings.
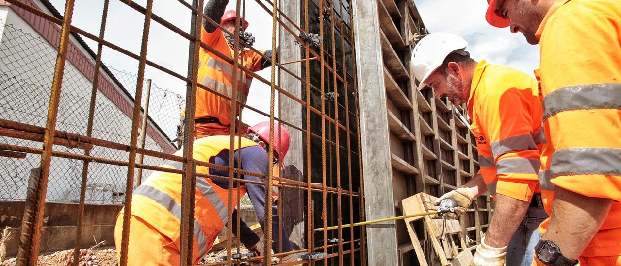
[[[122,206],[107,204],[86,204],[84,208],[84,227],[80,246],[88,249],[97,242],[114,245],[114,225],[116,215]],[[73,249],[78,223],[79,204],[46,203],[41,231],[39,252],[55,252]],[[0,228],[11,227],[12,238],[7,245],[7,256],[17,255],[20,226],[24,215],[23,201],[0,201]]]

